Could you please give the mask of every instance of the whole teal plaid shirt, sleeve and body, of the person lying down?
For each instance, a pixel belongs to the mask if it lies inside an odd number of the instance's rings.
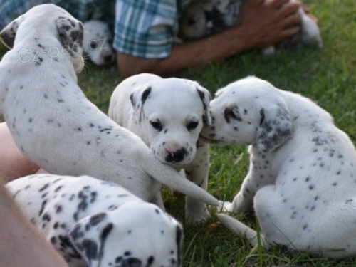
[[[117,51],[142,58],[169,56],[178,16],[190,0],[0,0],[0,30],[28,9],[53,3],[80,21],[100,19],[114,28]],[[116,19],[115,19],[116,17]]]

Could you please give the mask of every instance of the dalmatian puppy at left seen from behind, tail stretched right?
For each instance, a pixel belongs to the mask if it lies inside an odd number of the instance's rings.
[[[162,209],[161,182],[219,204],[85,97],[75,74],[83,68],[83,26],[68,12],[53,4],[35,6],[0,36],[13,45],[0,63],[0,115],[28,159],[48,173],[117,182]]]

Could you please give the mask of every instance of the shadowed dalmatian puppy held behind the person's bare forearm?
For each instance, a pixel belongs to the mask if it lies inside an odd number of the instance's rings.
[[[244,2],[245,0],[192,1],[184,9],[184,13],[179,20],[179,38],[194,40],[231,28],[236,25],[239,10]],[[323,47],[318,24],[305,14],[302,8],[299,9],[299,12],[302,17],[300,33],[290,40],[278,44],[278,47],[288,48],[301,45]],[[261,52],[266,56],[271,55],[275,53],[275,47],[268,46],[263,48]]]

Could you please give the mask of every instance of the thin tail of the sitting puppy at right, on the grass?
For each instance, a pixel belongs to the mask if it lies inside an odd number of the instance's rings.
[[[251,229],[250,227],[246,226],[246,224],[241,223],[241,221],[238,221],[229,215],[220,213],[216,214],[216,216],[218,217],[219,221],[221,221],[221,224],[224,224],[224,226],[233,231],[235,234],[244,236],[244,238],[247,239],[253,247],[258,245],[258,236],[255,230]],[[265,242],[262,240],[262,244],[264,243]]]

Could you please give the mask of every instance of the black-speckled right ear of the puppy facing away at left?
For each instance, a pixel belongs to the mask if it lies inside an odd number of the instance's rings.
[[[76,19],[59,17],[56,20],[56,28],[63,48],[70,55],[83,51],[83,23]]]

